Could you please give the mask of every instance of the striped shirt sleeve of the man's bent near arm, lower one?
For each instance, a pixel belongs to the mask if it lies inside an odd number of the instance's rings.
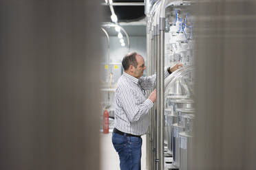
[[[132,89],[123,90],[119,95],[119,100],[130,122],[138,121],[153,107],[153,102],[150,99],[146,99],[140,104],[137,94]]]

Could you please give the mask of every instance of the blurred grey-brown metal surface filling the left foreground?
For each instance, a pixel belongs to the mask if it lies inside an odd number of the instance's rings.
[[[0,169],[99,169],[100,1],[0,2]]]

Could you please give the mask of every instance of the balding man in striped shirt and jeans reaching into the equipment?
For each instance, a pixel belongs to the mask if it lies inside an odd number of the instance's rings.
[[[156,101],[156,89],[145,97],[145,90],[153,89],[156,75],[142,77],[146,66],[138,53],[128,53],[122,59],[125,70],[119,78],[115,93],[115,128],[112,143],[118,152],[121,170],[139,170],[143,134],[149,126],[149,110]],[[176,64],[164,70],[164,77],[178,69]]]

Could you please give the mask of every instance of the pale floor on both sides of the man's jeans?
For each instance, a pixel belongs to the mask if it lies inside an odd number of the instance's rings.
[[[100,132],[100,170],[119,170],[118,153],[111,142],[112,132]],[[142,136],[141,169],[146,169],[146,135]]]

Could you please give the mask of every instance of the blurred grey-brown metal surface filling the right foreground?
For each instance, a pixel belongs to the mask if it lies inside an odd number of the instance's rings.
[[[189,169],[255,169],[256,1],[199,1]]]

